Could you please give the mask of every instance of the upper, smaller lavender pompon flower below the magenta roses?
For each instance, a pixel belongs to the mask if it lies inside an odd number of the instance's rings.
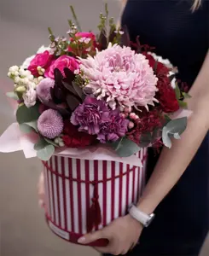
[[[55,86],[55,80],[43,79],[37,86],[37,95],[40,101],[44,99],[49,102],[51,100],[50,89]]]

